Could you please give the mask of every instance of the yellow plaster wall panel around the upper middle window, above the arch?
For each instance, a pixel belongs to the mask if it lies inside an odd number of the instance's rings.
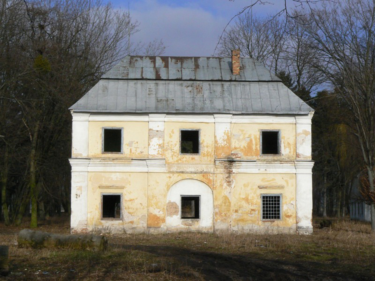
[[[180,129],[200,129],[200,154],[180,154]],[[212,164],[215,151],[214,123],[165,123],[165,162]]]

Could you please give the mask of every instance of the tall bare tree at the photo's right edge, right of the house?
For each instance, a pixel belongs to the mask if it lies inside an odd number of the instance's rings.
[[[320,59],[315,67],[324,75],[351,112],[357,138],[374,191],[375,168],[375,2],[345,0],[311,10],[304,23]],[[371,228],[375,231],[375,208]]]

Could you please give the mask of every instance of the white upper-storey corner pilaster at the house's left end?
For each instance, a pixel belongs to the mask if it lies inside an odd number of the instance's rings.
[[[89,156],[90,113],[72,111],[72,157]]]

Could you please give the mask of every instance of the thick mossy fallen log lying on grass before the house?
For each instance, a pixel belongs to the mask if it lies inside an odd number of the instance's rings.
[[[61,235],[30,229],[18,233],[18,247],[107,250],[108,240],[101,235]]]

